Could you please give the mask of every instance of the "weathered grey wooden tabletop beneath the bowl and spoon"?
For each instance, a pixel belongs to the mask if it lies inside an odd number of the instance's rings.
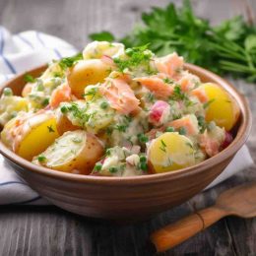
[[[79,49],[89,32],[122,35],[140,20],[154,0],[0,0],[0,24],[11,32],[38,30],[60,36]],[[180,4],[181,1],[175,1]],[[253,6],[254,5],[254,6]],[[193,1],[197,14],[213,24],[234,15],[256,15],[255,0]],[[253,11],[254,10],[254,11]],[[255,17],[254,17],[255,19]],[[247,145],[256,160],[256,86],[234,81],[248,97],[254,113]],[[256,166],[154,220],[120,226],[81,218],[55,207],[0,207],[0,255],[151,255],[146,240],[151,231],[211,205],[223,190],[256,179]],[[186,189],[186,188],[184,188]],[[256,219],[225,218],[164,255],[256,255]]]

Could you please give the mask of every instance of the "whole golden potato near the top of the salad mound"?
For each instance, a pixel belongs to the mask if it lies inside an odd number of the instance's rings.
[[[84,97],[85,88],[89,85],[102,83],[109,75],[110,66],[99,59],[81,60],[67,75],[72,94],[78,98]]]

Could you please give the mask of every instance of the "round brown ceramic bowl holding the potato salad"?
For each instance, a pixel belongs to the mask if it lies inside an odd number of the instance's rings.
[[[42,66],[29,73],[39,76]],[[32,164],[0,142],[0,153],[30,186],[52,204],[67,211],[109,220],[146,219],[181,204],[213,181],[245,143],[251,128],[251,113],[244,96],[221,77],[200,67],[186,68],[203,82],[214,82],[237,101],[241,115],[236,136],[223,152],[197,165],[160,174],[134,177],[99,177],[64,173]],[[25,85],[24,74],[7,82],[16,95]],[[0,91],[1,92],[1,91]]]

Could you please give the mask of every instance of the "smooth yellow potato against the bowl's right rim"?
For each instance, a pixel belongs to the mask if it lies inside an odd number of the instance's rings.
[[[215,121],[226,131],[232,129],[240,113],[237,103],[218,85],[207,83],[202,88],[209,102],[206,106],[206,121]]]

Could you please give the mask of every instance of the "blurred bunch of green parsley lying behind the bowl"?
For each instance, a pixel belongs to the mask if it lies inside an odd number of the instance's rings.
[[[197,64],[218,74],[229,73],[256,82],[256,27],[234,17],[212,27],[209,21],[195,16],[185,0],[181,8],[169,4],[154,7],[142,14],[142,24],[122,38],[111,32],[90,34],[93,40],[120,41],[126,47],[149,44],[162,56],[172,51],[187,62]]]

